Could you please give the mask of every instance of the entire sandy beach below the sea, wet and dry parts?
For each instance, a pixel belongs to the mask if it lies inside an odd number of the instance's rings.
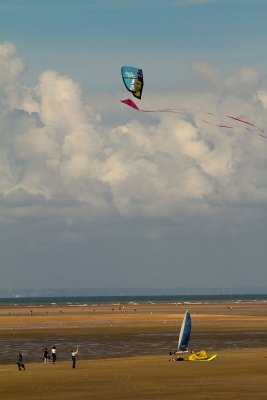
[[[186,309],[191,346],[217,353],[213,362],[169,361]],[[267,399],[266,336],[264,302],[2,307],[0,398]],[[58,361],[44,365],[54,344]]]

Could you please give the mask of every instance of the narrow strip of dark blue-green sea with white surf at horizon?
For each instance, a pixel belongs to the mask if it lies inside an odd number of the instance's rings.
[[[91,304],[153,304],[153,303],[220,303],[267,302],[267,294],[244,295],[171,295],[171,296],[79,296],[79,297],[10,297],[0,298],[1,306],[91,305]]]

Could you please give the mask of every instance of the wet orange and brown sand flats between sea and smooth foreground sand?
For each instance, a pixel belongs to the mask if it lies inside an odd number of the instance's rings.
[[[168,354],[187,308],[192,349],[267,348],[264,302],[9,307],[0,308],[0,365],[13,364],[18,351],[27,363],[41,362],[42,349],[53,345],[61,361],[74,345],[84,360]]]

